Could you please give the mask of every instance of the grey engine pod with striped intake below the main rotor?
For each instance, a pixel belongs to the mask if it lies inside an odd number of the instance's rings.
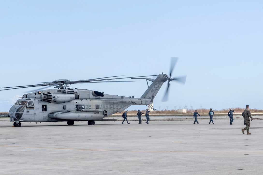
[[[53,94],[50,92],[40,95],[40,99],[49,103],[64,103],[75,100],[74,94]]]

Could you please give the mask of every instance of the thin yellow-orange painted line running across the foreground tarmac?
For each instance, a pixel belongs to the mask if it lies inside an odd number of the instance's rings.
[[[96,149],[77,149],[77,148],[50,148],[50,147],[32,147],[32,146],[8,146],[4,147],[19,147],[19,148],[44,148],[44,149],[60,149],[60,150],[86,150],[86,151],[133,151],[133,152],[214,152],[214,153],[263,153],[263,151],[157,151],[157,150],[96,150]]]

